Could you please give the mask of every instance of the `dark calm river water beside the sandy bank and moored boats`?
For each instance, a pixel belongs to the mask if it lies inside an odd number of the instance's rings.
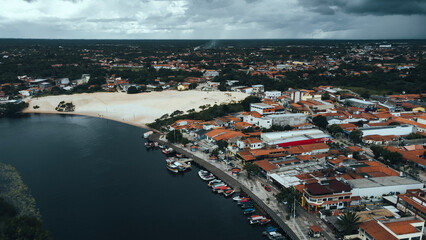
[[[232,199],[166,169],[145,130],[105,119],[0,119],[0,161],[15,166],[54,239],[266,239]]]

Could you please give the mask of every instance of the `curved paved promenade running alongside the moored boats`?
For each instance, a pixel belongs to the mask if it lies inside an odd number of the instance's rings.
[[[274,220],[274,222],[284,231],[284,233],[285,233],[285,235],[286,235],[286,237],[288,239],[292,239],[292,240],[293,239],[294,240],[298,240],[299,239],[299,237],[297,237],[297,235],[293,232],[293,230],[286,223],[284,223],[284,221],[282,220],[282,218],[280,216],[278,216],[278,214],[276,212],[274,212],[270,207],[268,207],[265,204],[264,201],[262,201],[259,197],[257,197],[246,186],[244,186],[239,181],[237,181],[236,179],[234,179],[231,176],[229,176],[223,170],[221,170],[221,169],[217,168],[216,166],[212,165],[207,160],[204,160],[204,159],[198,157],[197,155],[189,152],[188,150],[186,150],[183,147],[176,146],[176,145],[171,144],[171,143],[169,143],[167,141],[163,141],[162,139],[160,139],[160,136],[161,135],[159,133],[154,133],[153,135],[151,135],[149,137],[149,140],[156,141],[156,142],[159,142],[161,144],[164,144],[167,147],[171,147],[171,148],[175,149],[176,152],[184,154],[185,156],[187,156],[189,158],[192,158],[195,163],[197,163],[199,166],[201,166],[201,167],[207,169],[208,171],[210,171],[211,173],[213,173],[217,178],[219,178],[222,181],[226,182],[226,184],[228,184],[229,186],[231,186],[236,192],[237,191],[244,192],[245,194],[247,194],[256,203],[256,205],[259,208],[261,208],[265,213],[267,213]]]

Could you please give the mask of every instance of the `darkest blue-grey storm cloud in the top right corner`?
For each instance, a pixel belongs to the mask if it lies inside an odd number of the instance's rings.
[[[336,12],[357,15],[426,15],[425,0],[299,0],[314,12],[330,15]]]

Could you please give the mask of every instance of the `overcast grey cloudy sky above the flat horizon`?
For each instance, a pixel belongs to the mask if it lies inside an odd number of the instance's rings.
[[[426,0],[0,0],[1,38],[426,38]]]

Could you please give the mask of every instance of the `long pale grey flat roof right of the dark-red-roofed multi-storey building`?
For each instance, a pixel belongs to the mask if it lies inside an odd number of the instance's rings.
[[[372,188],[384,186],[398,186],[398,185],[411,185],[422,184],[419,181],[403,178],[399,176],[377,177],[377,178],[360,178],[348,180],[353,188]]]

